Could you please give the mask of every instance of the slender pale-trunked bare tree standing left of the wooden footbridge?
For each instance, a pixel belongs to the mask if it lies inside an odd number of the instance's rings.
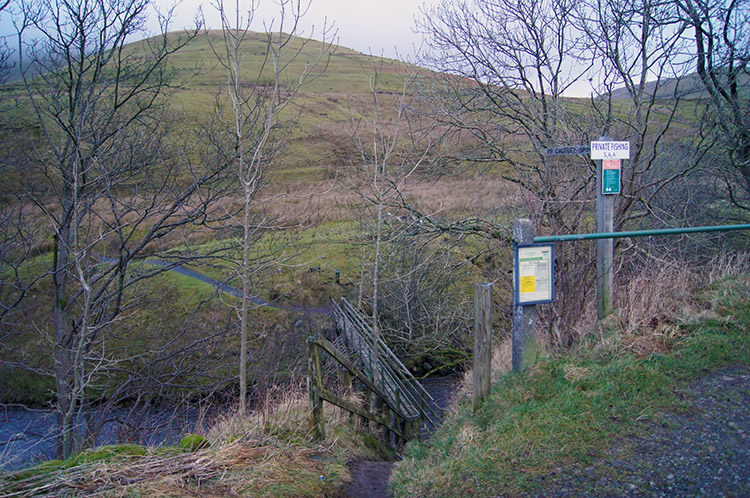
[[[262,202],[258,199],[269,168],[278,157],[288,133],[295,124],[294,115],[282,117],[288,111],[302,87],[325,71],[330,57],[332,33],[326,26],[322,29],[322,42],[312,38],[300,38],[299,22],[309,3],[300,0],[278,2],[279,16],[265,24],[264,33],[253,33],[250,26],[258,7],[251,0],[243,11],[243,5],[235,2],[230,10],[223,0],[214,7],[221,17],[221,39],[212,43],[214,53],[227,72],[226,97],[231,103],[231,112],[225,110],[224,96],[217,100],[219,123],[231,121],[231,125],[219,134],[229,132],[231,137],[223,143],[229,146],[223,157],[236,171],[242,188],[242,208],[239,225],[242,227],[239,275],[242,282],[240,318],[240,396],[239,412],[245,413],[247,401],[247,352],[249,311],[252,306],[251,276],[258,270],[258,256],[253,255],[257,239],[274,226],[275,220],[262,213]],[[210,33],[209,33],[210,36]],[[311,35],[312,36],[312,35]],[[209,38],[210,39],[210,38]],[[256,47],[252,47],[255,44]],[[260,45],[264,57],[260,68],[249,72],[243,59],[251,48]],[[313,47],[314,56],[305,60],[303,68],[292,74],[293,63],[300,62],[303,52]],[[231,116],[227,119],[226,116]],[[229,123],[226,123],[229,124]],[[221,125],[220,125],[221,126]],[[214,140],[214,143],[222,143]]]

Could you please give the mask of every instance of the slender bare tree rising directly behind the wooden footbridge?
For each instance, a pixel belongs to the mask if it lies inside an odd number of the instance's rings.
[[[420,328],[415,323],[416,317],[423,310],[417,309],[418,305],[410,305],[415,304],[417,295],[425,297],[429,292],[427,286],[419,285],[416,274],[423,276],[421,271],[434,258],[432,254],[422,258],[427,253],[418,251],[420,262],[414,267],[407,264],[410,268],[407,269],[394,263],[396,254],[401,249],[409,252],[407,246],[415,242],[416,236],[422,231],[423,217],[415,214],[419,211],[410,207],[403,195],[407,186],[428,167],[434,149],[440,143],[441,130],[436,126],[434,118],[417,111],[420,96],[415,89],[423,76],[420,74],[421,70],[406,65],[403,69],[403,74],[399,75],[401,86],[395,92],[387,91],[382,86],[382,59],[379,65],[372,68],[367,104],[352,109],[350,133],[359,151],[359,163],[354,168],[355,177],[352,180],[354,188],[364,200],[366,215],[361,220],[362,233],[364,243],[372,247],[371,252],[368,250],[363,253],[367,264],[363,261],[360,302],[365,292],[364,279],[367,277],[369,280],[366,288],[370,294],[372,327],[376,336],[387,335],[392,343],[397,342],[403,349],[413,349],[418,342],[415,332]],[[429,241],[433,239],[434,235],[422,242],[429,245]],[[410,260],[410,263],[415,261]],[[368,275],[365,275],[365,267],[370,269]],[[399,287],[400,285],[406,285],[409,290]],[[397,288],[405,292],[398,292]],[[394,319],[390,313],[395,301],[386,302],[394,298],[406,300],[406,311],[399,319]],[[401,308],[401,311],[404,309]],[[430,311],[436,310],[430,307]],[[385,323],[381,320],[381,315],[386,316]],[[404,340],[404,335],[400,333],[388,333],[403,326],[409,327],[406,335],[411,337],[411,343]],[[424,329],[421,331],[424,332]]]

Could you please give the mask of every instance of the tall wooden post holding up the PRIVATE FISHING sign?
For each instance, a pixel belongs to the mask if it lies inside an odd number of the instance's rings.
[[[599,140],[608,141],[609,137],[601,137]],[[602,160],[596,161],[596,231],[609,233],[614,232],[615,196],[602,193],[602,163]],[[613,253],[613,239],[596,241],[596,316],[599,320],[612,312]]]

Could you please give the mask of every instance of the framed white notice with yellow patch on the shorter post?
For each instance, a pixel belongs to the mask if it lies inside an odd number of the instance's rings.
[[[555,246],[517,245],[514,294],[516,305],[551,303],[555,300]]]

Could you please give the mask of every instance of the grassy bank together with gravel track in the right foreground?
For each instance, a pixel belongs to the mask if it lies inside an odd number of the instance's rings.
[[[396,465],[394,496],[746,496],[750,274],[715,270],[687,293],[672,279],[691,272],[644,272],[649,289],[629,285],[657,301],[623,302],[527,373],[498,347],[489,398],[472,414],[467,374],[438,435]]]

